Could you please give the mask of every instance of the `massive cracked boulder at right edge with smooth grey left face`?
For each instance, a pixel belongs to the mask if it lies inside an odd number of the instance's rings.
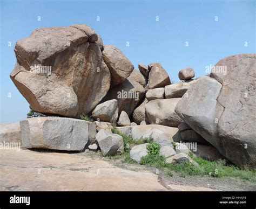
[[[256,55],[220,60],[211,78],[199,78],[176,113],[221,155],[242,167],[256,166]]]

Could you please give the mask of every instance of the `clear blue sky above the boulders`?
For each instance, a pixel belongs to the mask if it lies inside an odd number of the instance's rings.
[[[9,74],[16,41],[38,27],[90,25],[136,68],[160,62],[175,82],[182,68],[192,67],[199,77],[221,58],[255,53],[255,1],[0,1],[0,122],[29,112]]]

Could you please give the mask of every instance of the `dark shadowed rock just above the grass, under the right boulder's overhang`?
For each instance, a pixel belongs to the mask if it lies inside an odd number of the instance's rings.
[[[191,151],[202,158],[208,159],[208,161],[217,161],[218,159],[224,159],[220,152],[211,145],[197,144],[197,151]]]

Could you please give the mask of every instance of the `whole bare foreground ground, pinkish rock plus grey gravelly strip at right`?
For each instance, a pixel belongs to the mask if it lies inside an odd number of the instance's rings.
[[[157,173],[157,174],[156,174]],[[0,151],[0,191],[255,191],[250,182],[173,177],[94,152]]]

